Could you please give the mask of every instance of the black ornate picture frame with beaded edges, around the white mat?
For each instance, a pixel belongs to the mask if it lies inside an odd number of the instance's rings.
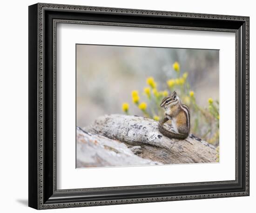
[[[236,180],[56,189],[56,25],[236,33]],[[249,17],[38,3],[29,6],[29,200],[36,209],[249,195]]]

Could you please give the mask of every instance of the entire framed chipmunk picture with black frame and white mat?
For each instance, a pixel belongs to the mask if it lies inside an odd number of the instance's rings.
[[[249,17],[29,6],[35,209],[249,195]]]

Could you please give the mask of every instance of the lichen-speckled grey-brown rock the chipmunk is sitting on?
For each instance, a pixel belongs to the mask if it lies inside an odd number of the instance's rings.
[[[172,126],[165,124],[166,128]],[[143,159],[162,164],[216,162],[216,148],[190,134],[185,140],[169,139],[158,131],[158,122],[131,115],[111,114],[97,118],[84,130],[119,140],[128,146],[141,146]]]

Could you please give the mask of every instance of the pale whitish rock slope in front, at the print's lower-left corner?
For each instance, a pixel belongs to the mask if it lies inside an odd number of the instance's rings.
[[[76,128],[76,167],[157,165],[135,155],[124,143]]]

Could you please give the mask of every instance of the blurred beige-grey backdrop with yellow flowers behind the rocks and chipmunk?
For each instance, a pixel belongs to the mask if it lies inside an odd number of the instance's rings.
[[[159,120],[162,112],[156,105],[176,90],[190,108],[191,133],[218,146],[218,50],[77,45],[76,60],[77,126],[111,113]],[[139,107],[142,102],[146,108]]]

